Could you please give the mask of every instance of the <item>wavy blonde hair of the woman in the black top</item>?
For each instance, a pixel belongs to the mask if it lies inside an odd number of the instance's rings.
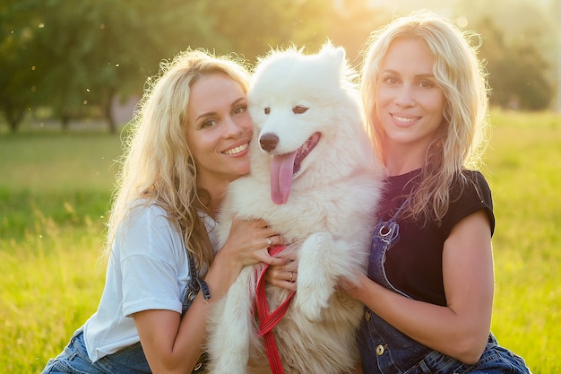
[[[450,204],[450,187],[458,179],[470,183],[464,169],[478,169],[487,145],[487,74],[477,57],[479,35],[462,31],[436,13],[420,11],[388,23],[370,35],[361,70],[367,127],[380,160],[383,130],[375,118],[376,83],[382,60],[393,40],[421,39],[434,57],[433,73],[444,91],[444,123],[430,144],[421,180],[404,215],[413,220],[442,222]],[[474,43],[474,41],[476,41]]]

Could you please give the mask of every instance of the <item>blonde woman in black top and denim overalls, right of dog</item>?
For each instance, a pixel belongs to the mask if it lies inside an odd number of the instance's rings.
[[[364,373],[529,373],[490,333],[491,191],[475,169],[488,116],[476,40],[434,13],[369,40],[361,86],[387,173],[362,301]]]

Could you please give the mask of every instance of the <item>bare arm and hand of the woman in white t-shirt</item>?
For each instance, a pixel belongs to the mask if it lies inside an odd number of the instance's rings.
[[[284,260],[269,256],[268,240],[279,238],[263,221],[234,220],[227,243],[220,249],[205,276],[211,299],[197,295],[181,319],[172,310],[151,309],[133,315],[142,349],[153,373],[191,373],[202,353],[208,316],[245,265],[265,262],[280,265]],[[201,293],[201,292],[199,292]]]

